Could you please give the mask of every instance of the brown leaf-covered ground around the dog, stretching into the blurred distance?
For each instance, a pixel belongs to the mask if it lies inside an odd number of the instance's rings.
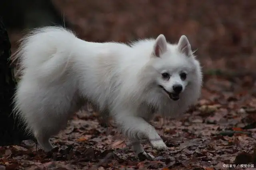
[[[136,158],[114,124],[93,111],[74,115],[45,153],[34,143],[0,147],[0,170],[186,169],[256,166],[256,1],[54,0],[77,35],[88,41],[132,41],[163,33],[172,43],[187,35],[204,66],[198,104],[184,117],[152,125],[169,147],[155,160]],[[20,30],[11,32],[12,51]],[[189,96],[188,96],[189,97]],[[224,166],[229,166],[224,167]],[[247,169],[252,169],[247,167]]]

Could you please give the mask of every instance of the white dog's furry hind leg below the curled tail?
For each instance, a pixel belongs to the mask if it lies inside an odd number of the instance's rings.
[[[53,146],[49,138],[68,125],[68,120],[81,108],[83,101],[78,94],[60,88],[58,91],[56,88],[29,87],[20,86],[18,89],[18,113],[42,149],[50,151]]]

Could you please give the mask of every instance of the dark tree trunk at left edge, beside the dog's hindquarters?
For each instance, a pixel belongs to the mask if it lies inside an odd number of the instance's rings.
[[[21,125],[11,114],[16,82],[9,62],[10,47],[8,33],[0,17],[0,146],[17,145],[23,140],[34,139],[24,135]]]

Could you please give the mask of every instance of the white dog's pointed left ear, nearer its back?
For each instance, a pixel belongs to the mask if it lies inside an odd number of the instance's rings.
[[[163,54],[164,52],[166,52],[166,50],[167,50],[166,39],[165,39],[164,35],[160,34],[156,38],[153,54],[156,57],[160,57],[160,55]]]

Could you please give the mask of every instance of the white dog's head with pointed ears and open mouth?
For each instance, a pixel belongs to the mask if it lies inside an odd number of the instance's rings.
[[[154,58],[152,66],[157,72],[156,84],[170,99],[178,101],[180,94],[186,88],[191,89],[190,85],[200,90],[202,83],[200,64],[195,59],[185,35],[182,35],[175,45],[167,43],[164,35],[159,35],[154,42],[152,57]]]

